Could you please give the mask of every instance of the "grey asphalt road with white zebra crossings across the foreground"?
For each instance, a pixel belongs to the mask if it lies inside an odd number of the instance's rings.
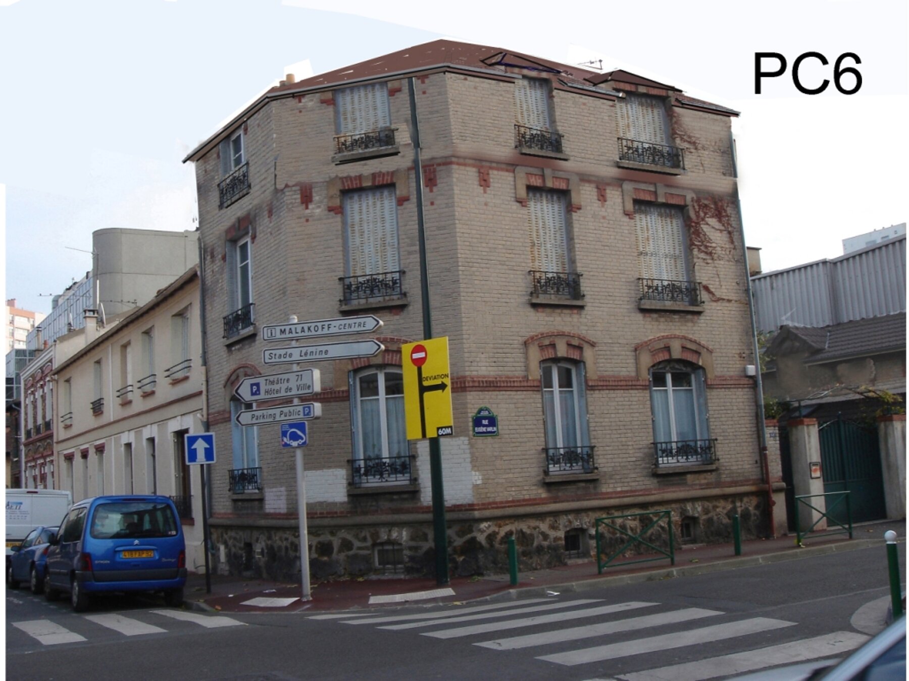
[[[881,620],[888,594],[883,548],[543,598],[327,617],[190,613],[135,597],[101,601],[75,615],[65,602],[7,589],[6,675],[24,681],[724,678],[799,656],[843,656],[883,626],[869,629],[867,614]]]

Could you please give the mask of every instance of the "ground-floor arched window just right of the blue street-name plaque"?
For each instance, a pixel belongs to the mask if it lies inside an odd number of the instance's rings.
[[[584,363],[546,360],[540,364],[549,473],[594,472],[587,432]]]

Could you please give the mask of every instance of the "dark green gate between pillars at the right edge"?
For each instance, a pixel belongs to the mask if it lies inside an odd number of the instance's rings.
[[[877,430],[837,418],[818,426],[824,492],[849,492],[853,522],[886,518]],[[845,524],[845,508],[830,514]]]

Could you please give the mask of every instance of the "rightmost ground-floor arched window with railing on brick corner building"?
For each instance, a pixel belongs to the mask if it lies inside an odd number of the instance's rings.
[[[701,367],[674,360],[654,364],[650,370],[650,401],[657,466],[714,462]]]

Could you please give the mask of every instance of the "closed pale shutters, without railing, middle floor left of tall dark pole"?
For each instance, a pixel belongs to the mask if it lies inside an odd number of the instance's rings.
[[[395,187],[345,193],[347,276],[398,271]]]

